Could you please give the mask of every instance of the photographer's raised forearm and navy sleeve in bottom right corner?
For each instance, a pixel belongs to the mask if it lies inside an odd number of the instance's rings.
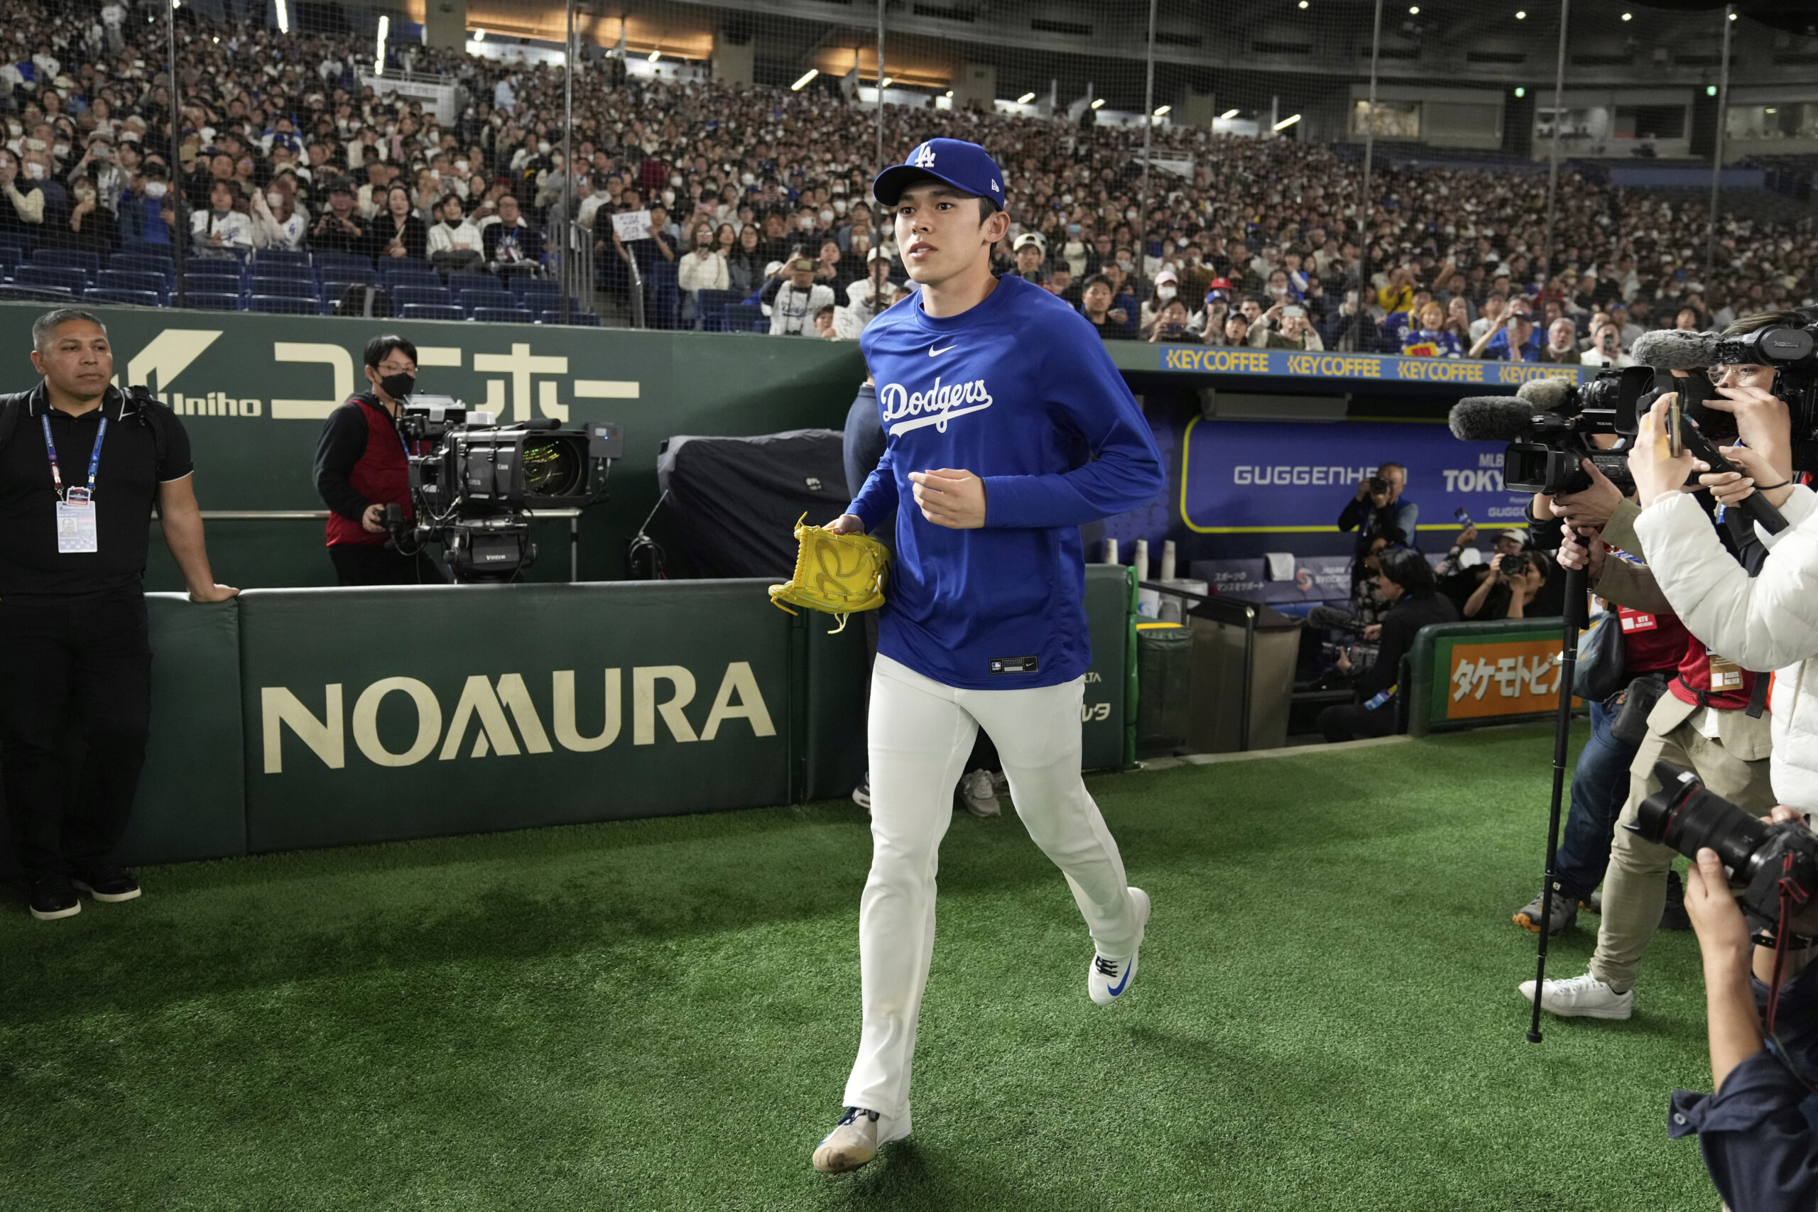
[[[1776,807],[1774,821],[1800,812]],[[1773,952],[1751,947],[1749,923],[1736,905],[1723,859],[1703,847],[1685,874],[1685,910],[1703,956],[1705,1019],[1714,1094],[1673,1092],[1674,1139],[1698,1134],[1711,1183],[1731,1212],[1780,1212],[1818,1207],[1818,1130],[1813,1107],[1813,1032],[1818,1028],[1818,969],[1789,956],[1793,976],[1782,981],[1769,1050],[1762,1010],[1769,1005]],[[1811,910],[1794,919],[1813,932]],[[1751,956],[1753,952],[1753,956]],[[1767,972],[1763,972],[1763,961]]]

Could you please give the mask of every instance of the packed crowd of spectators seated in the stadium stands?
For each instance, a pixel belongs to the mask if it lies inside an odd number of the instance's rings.
[[[773,333],[847,338],[905,287],[869,200],[873,111],[854,120],[829,89],[627,78],[622,60],[594,58],[564,134],[560,69],[395,45],[396,67],[458,84],[458,118],[442,124],[358,85],[364,40],[184,7],[173,164],[162,24],[120,0],[0,11],[16,55],[0,67],[0,242],[105,262],[187,227],[204,256],[280,247],[534,271],[580,169],[576,222],[602,289],[627,294],[627,260],[644,282],[674,265],[680,305],[656,322],[704,323],[696,293],[729,291]],[[885,107],[884,144],[991,149],[1013,218],[1000,271],[1074,302],[1107,340],[1622,365],[1647,329],[1723,327],[1818,293],[1811,222],[1720,216],[1707,278],[1700,207],[1565,173],[1549,265],[1545,191],[1525,173],[1382,171],[1360,229],[1360,171],[1331,147],[1164,125],[1156,154],[1193,169],[1154,167],[1145,193],[1142,131],[1091,116],[931,98]],[[616,233],[602,211],[651,222]]]

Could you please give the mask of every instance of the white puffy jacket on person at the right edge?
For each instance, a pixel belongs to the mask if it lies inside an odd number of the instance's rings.
[[[1643,509],[1634,532],[1687,631],[1743,669],[1776,671],[1774,796],[1818,812],[1818,494],[1793,489],[1780,512],[1780,534],[1756,527],[1769,554],[1753,580],[1689,494]]]

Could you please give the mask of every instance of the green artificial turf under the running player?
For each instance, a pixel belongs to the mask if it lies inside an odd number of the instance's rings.
[[[1154,898],[1109,1010],[1014,816],[956,816],[916,1132],[842,1177],[845,801],[0,901],[0,1208],[1714,1212],[1665,1132],[1709,1083],[1691,936],[1631,1021],[1523,1039],[1549,761],[1525,727],[1093,778]]]

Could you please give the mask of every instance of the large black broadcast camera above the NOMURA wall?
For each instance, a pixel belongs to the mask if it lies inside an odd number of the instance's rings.
[[[536,560],[531,518],[540,509],[585,509],[605,496],[620,425],[562,427],[540,418],[496,425],[453,396],[409,396],[398,436],[411,451],[411,505],[387,516],[393,543],[415,554],[440,543],[456,583],[509,581]],[[422,445],[425,454],[415,451]]]

